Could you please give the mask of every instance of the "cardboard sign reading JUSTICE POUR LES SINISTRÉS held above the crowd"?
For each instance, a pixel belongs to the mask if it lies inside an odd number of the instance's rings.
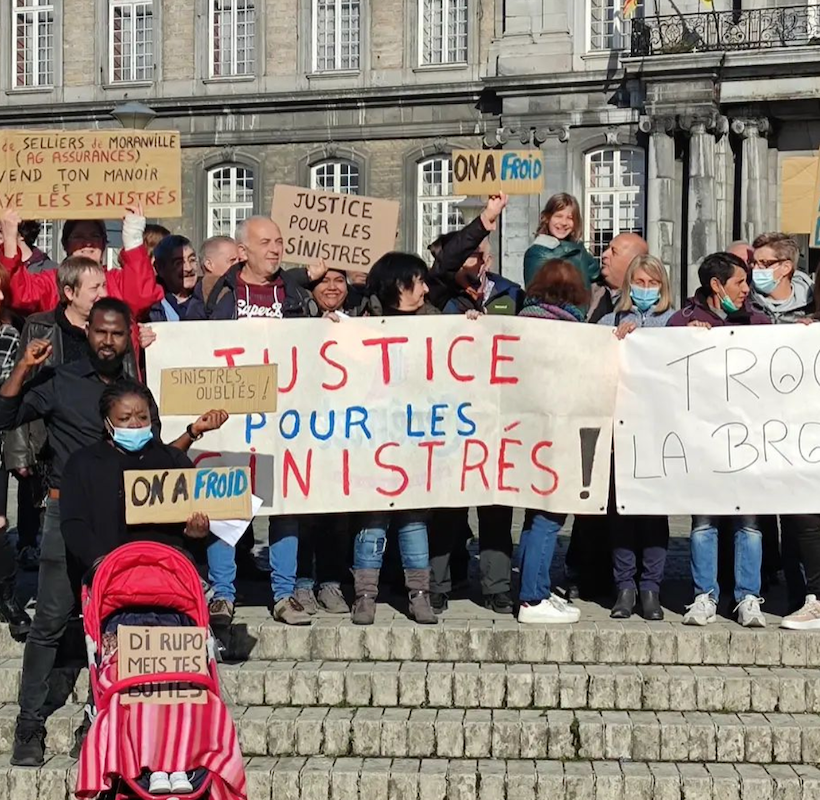
[[[277,184],[271,218],[282,229],[284,261],[369,272],[396,248],[399,204],[355,194],[314,192]]]

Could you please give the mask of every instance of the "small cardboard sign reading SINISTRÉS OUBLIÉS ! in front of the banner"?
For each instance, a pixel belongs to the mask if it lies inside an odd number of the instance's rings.
[[[229,414],[276,411],[276,364],[162,371],[161,413],[193,416],[212,408]]]

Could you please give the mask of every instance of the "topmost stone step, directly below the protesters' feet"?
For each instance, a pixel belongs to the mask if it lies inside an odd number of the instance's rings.
[[[820,632],[773,627],[750,630],[732,622],[704,628],[640,619],[617,622],[594,603],[603,619],[575,625],[519,625],[459,601],[465,611],[438,625],[416,625],[385,609],[383,621],[356,626],[347,616],[320,615],[310,626],[274,622],[262,607],[243,607],[230,632],[235,661],[452,661],[532,664],[665,664],[759,667],[820,666]],[[379,613],[382,615],[383,607]],[[585,610],[585,613],[586,610]],[[71,627],[68,657],[84,658],[82,630]],[[23,645],[0,624],[0,658],[20,658]]]

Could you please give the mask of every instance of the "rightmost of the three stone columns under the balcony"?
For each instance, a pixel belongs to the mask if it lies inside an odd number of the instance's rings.
[[[767,119],[736,119],[732,131],[743,137],[740,162],[740,236],[751,242],[768,228],[769,132]]]

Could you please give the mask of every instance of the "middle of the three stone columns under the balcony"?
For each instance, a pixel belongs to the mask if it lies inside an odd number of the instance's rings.
[[[723,246],[717,238],[715,183],[715,134],[722,119],[717,114],[681,119],[681,127],[689,131],[688,294],[699,285],[698,262]]]

